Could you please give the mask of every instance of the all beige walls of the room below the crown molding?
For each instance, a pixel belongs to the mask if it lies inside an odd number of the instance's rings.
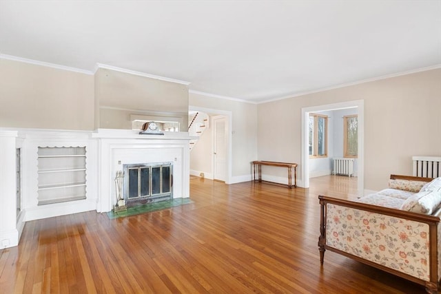
[[[252,160],[301,162],[302,107],[362,99],[365,189],[382,189],[389,174],[411,174],[413,155],[441,156],[441,69],[259,105],[188,96],[187,85],[125,75],[99,70],[94,77],[0,59],[0,127],[125,128],[127,116],[151,109],[168,113],[182,112],[188,105],[219,109],[232,113],[232,176],[245,179],[251,174]],[[132,90],[134,85],[141,85],[141,90]],[[156,85],[156,90],[147,90],[147,85]],[[98,105],[103,107],[101,120]],[[183,121],[186,125],[187,118]],[[276,172],[285,177],[283,171]]]

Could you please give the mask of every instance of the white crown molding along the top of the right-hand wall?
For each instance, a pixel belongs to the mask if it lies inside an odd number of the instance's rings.
[[[295,97],[304,96],[304,95],[308,95],[308,94],[314,94],[314,93],[318,93],[318,92],[334,90],[334,89],[338,89],[338,88],[342,88],[342,87],[349,87],[352,85],[358,85],[358,84],[362,84],[362,83],[380,81],[380,80],[384,80],[386,78],[394,78],[396,76],[405,76],[407,74],[416,74],[418,72],[426,72],[428,70],[438,70],[439,68],[441,68],[441,63],[436,64],[436,65],[427,66],[427,67],[420,67],[415,70],[408,70],[406,72],[397,72],[395,74],[387,74],[384,76],[377,76],[375,78],[367,78],[365,80],[355,81],[355,82],[351,82],[351,83],[345,83],[345,84],[340,84],[340,85],[334,85],[331,87],[324,87],[324,88],[320,88],[317,90],[311,90],[311,91],[305,91],[305,92],[300,92],[300,93],[291,94],[291,95],[285,95],[285,96],[274,98],[274,99],[268,99],[265,101],[258,101],[256,104],[269,103],[269,102],[279,101],[279,100],[283,100],[283,99],[287,99],[287,98],[295,98]]]

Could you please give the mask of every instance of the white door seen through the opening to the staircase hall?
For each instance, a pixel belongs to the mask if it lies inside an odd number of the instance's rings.
[[[225,182],[227,174],[227,119],[225,116],[214,116],[213,126],[213,178]]]

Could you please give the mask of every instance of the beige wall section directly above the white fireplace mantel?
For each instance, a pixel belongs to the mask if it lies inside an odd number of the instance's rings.
[[[95,99],[100,128],[131,129],[130,115],[136,114],[163,120],[178,117],[181,131],[187,130],[187,85],[100,68],[95,74]]]

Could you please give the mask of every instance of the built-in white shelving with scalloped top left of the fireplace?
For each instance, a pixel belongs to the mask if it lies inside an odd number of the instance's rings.
[[[38,204],[85,199],[85,147],[38,148]]]

